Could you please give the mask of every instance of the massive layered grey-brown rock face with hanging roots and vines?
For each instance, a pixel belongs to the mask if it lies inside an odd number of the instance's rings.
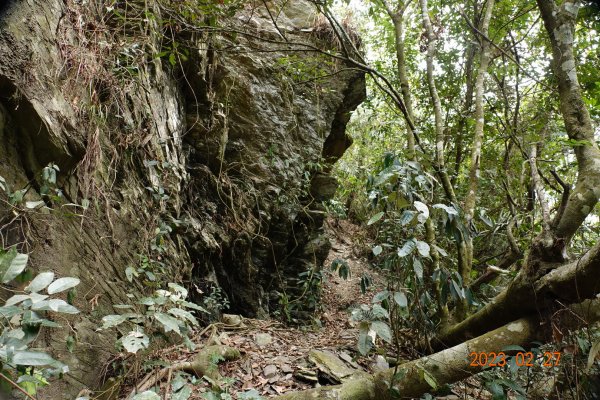
[[[99,319],[156,285],[130,283],[129,266],[199,302],[219,286],[249,316],[293,297],[327,254],[327,172],[365,97],[361,73],[317,51],[335,44],[309,2],[90,3],[9,2],[0,17],[1,245],[82,280],[77,351],[66,330],[40,343],[70,365],[71,392],[97,386],[114,351]],[[56,184],[42,179],[50,163]],[[20,189],[51,211],[27,209]]]

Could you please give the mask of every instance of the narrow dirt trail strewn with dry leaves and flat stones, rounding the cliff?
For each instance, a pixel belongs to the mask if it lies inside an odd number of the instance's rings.
[[[332,249],[323,268],[322,311],[316,315],[322,326],[291,328],[275,321],[247,319],[244,321],[247,330],[226,332],[222,343],[242,351],[239,361],[222,366],[223,376],[238,380],[236,390],[253,388],[269,397],[313,387],[319,374],[307,359],[311,350],[330,350],[349,367],[368,370],[368,360],[356,359],[358,328],[350,320],[350,313],[354,306],[370,303],[377,287],[381,288],[378,284],[381,279],[367,260],[355,255],[353,238],[360,230],[358,227],[346,221],[329,221],[327,229]],[[336,258],[348,262],[351,275],[347,280],[330,271]],[[363,274],[369,274],[375,282],[365,294],[360,290]],[[262,344],[269,337],[271,342]]]

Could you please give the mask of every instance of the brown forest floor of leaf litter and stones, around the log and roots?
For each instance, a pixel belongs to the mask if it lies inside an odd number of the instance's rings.
[[[312,326],[290,327],[276,320],[242,318],[236,326],[214,324],[212,329],[205,329],[194,338],[198,349],[216,342],[238,349],[241,357],[218,367],[225,378],[220,387],[231,397],[207,397],[210,384],[201,381],[194,385],[190,399],[237,399],[240,393],[250,389],[256,390],[263,398],[269,398],[316,385],[339,383],[327,374],[326,369],[314,363],[314,357],[311,357],[314,350],[333,355],[344,364],[344,368],[367,372],[387,368],[381,356],[360,356],[357,350],[358,323],[351,320],[353,308],[370,304],[373,295],[385,288],[384,278],[369,266],[365,257],[364,249],[368,248],[365,234],[361,228],[347,221],[329,220],[326,228],[332,248],[323,267],[321,309],[315,313]],[[348,279],[330,271],[332,261],[337,258],[348,263],[351,272]],[[365,274],[371,277],[372,284],[363,294],[360,280]],[[160,351],[156,358],[175,364],[192,360],[194,354],[178,346]],[[170,386],[166,380],[161,385],[161,393]],[[461,392],[460,398],[464,398],[465,392]]]

